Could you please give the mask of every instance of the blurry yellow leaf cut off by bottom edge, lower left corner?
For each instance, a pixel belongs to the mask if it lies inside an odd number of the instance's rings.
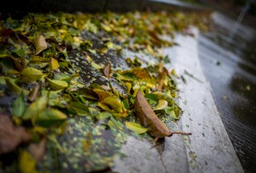
[[[31,153],[21,150],[19,153],[19,170],[21,173],[36,173],[36,160]]]

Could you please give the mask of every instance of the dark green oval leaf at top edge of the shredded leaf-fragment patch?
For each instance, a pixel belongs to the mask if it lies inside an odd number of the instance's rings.
[[[90,115],[90,111],[88,110],[88,107],[86,105],[84,105],[83,103],[81,102],[71,102],[69,104],[69,107],[68,109],[77,114],[77,115],[80,115],[80,116],[87,116],[87,115]]]

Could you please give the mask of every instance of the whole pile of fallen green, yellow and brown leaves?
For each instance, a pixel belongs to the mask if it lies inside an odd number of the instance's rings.
[[[127,135],[169,136],[159,118],[178,120],[181,110],[174,76],[164,67],[168,57],[160,54],[174,42],[161,35],[205,29],[200,20],[181,12],[60,12],[0,21],[0,93],[15,98],[0,115],[0,154],[17,153],[18,167],[8,169],[101,171],[113,165]],[[159,63],[142,67],[140,58],[120,55],[116,62],[130,67],[121,69],[98,58],[124,49]],[[147,111],[158,123],[145,121]]]

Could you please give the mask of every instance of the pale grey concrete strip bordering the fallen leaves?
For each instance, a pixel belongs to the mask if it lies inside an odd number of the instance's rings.
[[[206,82],[197,52],[198,32],[195,38],[178,35],[179,46],[165,49],[178,75],[179,105],[184,110],[177,130],[191,132],[189,137],[173,135],[165,138],[159,147],[154,143],[129,138],[122,148],[128,157],[116,158],[113,171],[117,172],[244,172],[234,147],[225,130],[211,96],[211,86]],[[186,76],[192,73],[201,82]]]

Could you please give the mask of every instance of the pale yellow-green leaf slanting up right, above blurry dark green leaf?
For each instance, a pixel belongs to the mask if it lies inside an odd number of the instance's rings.
[[[31,119],[39,115],[42,111],[46,109],[48,103],[48,96],[41,96],[36,101],[31,103],[28,108],[25,110],[24,114],[22,115],[22,119]]]

